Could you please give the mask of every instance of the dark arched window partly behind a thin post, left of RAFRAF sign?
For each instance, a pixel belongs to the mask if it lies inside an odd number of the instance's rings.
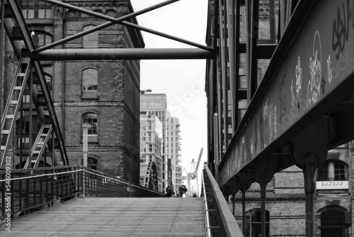
[[[246,212],[246,237],[261,236],[261,209]],[[269,211],[265,210],[265,236],[269,236]]]

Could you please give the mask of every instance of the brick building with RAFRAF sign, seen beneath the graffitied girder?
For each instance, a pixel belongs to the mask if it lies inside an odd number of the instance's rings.
[[[354,143],[329,150],[316,170],[315,236],[352,236]],[[246,192],[246,233],[261,233],[261,189],[253,183]],[[230,209],[233,204],[230,199]],[[267,236],[305,236],[304,175],[297,166],[275,173],[266,192]],[[242,226],[242,199],[236,194],[235,219]]]

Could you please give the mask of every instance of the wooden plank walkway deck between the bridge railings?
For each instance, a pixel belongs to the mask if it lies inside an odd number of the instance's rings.
[[[5,228],[0,236],[205,236],[200,198],[76,198]]]

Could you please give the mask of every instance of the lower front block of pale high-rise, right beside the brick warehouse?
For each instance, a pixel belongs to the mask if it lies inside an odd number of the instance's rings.
[[[140,114],[140,185],[162,189],[162,123],[154,114]]]

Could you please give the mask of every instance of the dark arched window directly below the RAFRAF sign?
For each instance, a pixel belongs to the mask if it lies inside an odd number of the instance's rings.
[[[346,209],[341,206],[326,206],[321,211],[321,237],[346,236]]]

